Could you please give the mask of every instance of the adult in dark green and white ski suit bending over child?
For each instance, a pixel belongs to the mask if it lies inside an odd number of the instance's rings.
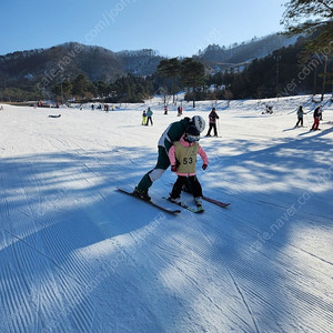
[[[152,170],[150,170],[142,176],[141,181],[133,191],[134,195],[139,196],[140,199],[150,201],[150,196],[148,193],[150,186],[154,181],[161,178],[161,175],[170,165],[168,155],[170,148],[172,147],[173,142],[176,142],[181,139],[181,137],[185,133],[186,129],[190,125],[194,125],[199,130],[199,132],[202,132],[204,131],[205,122],[200,115],[194,115],[192,119],[185,117],[180,121],[171,123],[165,129],[158,143],[158,162]]]

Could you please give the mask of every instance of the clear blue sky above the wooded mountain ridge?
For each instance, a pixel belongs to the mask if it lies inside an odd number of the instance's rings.
[[[4,3],[3,3],[4,2]],[[283,30],[286,0],[4,0],[0,54],[69,41],[192,56]]]

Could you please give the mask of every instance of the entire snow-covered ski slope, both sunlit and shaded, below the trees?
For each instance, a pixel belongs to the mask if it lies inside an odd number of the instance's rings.
[[[305,127],[293,129],[300,104]],[[184,102],[183,117],[208,120],[212,105]],[[231,205],[175,216],[115,189],[154,165],[176,107],[4,105],[0,332],[333,332],[330,97],[315,132],[310,97],[214,105],[221,138],[200,141],[210,164],[199,158],[198,176]],[[153,127],[141,125],[147,107]],[[174,181],[169,169],[153,200],[172,205]]]

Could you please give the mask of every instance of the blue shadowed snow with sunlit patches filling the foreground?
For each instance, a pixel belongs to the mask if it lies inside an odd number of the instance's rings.
[[[204,193],[232,204],[206,203],[202,215],[176,218],[115,191],[133,188],[157,151],[2,159],[2,329],[273,332],[297,323],[315,329],[314,317],[327,323],[319,284],[329,281],[330,260],[302,231],[320,229],[319,242],[329,242],[332,178],[320,176],[332,171],[329,133],[262,150],[235,140],[232,157],[205,143],[212,159],[199,172]],[[170,188],[170,172],[163,179],[153,192]],[[323,278],[314,279],[316,271]]]

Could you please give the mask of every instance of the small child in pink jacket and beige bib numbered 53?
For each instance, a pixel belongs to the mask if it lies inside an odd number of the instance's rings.
[[[169,200],[176,203],[180,202],[182,188],[189,183],[192,188],[196,206],[202,209],[202,188],[195,175],[196,154],[200,154],[203,161],[203,170],[206,169],[209,160],[204,150],[199,144],[199,140],[200,131],[194,125],[190,125],[180,141],[174,142],[170,148],[169,159],[171,171],[176,173],[178,179],[172,188]]]

